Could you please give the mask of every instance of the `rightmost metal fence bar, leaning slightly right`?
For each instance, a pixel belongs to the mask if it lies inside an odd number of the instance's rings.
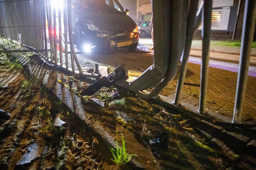
[[[251,43],[255,31],[256,1],[245,1],[244,23],[242,29],[242,40],[239,60],[239,71],[237,77],[237,91],[234,104],[232,123],[240,123],[242,119],[242,108],[245,99],[248,67],[250,63]]]

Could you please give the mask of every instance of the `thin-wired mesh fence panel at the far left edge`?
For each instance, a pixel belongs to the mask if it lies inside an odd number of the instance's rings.
[[[35,51],[46,54],[43,3],[41,0],[0,1],[0,39],[6,52]]]

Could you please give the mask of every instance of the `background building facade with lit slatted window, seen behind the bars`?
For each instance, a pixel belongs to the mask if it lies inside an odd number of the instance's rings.
[[[199,0],[199,4],[201,1],[202,0]],[[240,8],[238,9],[239,1]],[[127,7],[131,11],[130,17],[133,18],[134,21],[150,20],[152,13],[151,0],[119,0],[119,2],[124,8]],[[125,2],[127,2],[127,4]],[[240,39],[244,8],[245,0],[213,0],[212,39],[232,39],[234,30],[234,38]],[[202,26],[198,28],[194,38],[199,39],[201,37],[201,30]]]

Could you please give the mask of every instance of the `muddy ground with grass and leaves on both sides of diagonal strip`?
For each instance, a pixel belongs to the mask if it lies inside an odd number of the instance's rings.
[[[0,121],[0,169],[254,169],[255,140],[226,133],[117,87],[80,96],[88,86],[73,76],[54,80],[83,98],[91,122],[102,125],[127,150],[137,154],[121,167],[104,140],[79,122],[54,95],[0,55],[0,108],[11,119]],[[6,62],[8,61],[9,62]],[[16,63],[15,65],[13,63]],[[66,123],[54,126],[57,115]],[[61,122],[60,122],[61,123]],[[116,136],[116,132],[118,135]],[[150,140],[162,135],[160,144]],[[166,139],[166,140],[165,140]]]

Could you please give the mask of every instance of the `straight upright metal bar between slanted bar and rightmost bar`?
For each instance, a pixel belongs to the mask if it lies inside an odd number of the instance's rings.
[[[199,97],[199,110],[198,112],[205,113],[205,103],[207,95],[208,84],[208,70],[209,70],[209,50],[211,38],[211,15],[212,15],[212,0],[204,0],[202,21],[202,65],[201,65],[201,84],[200,84],[200,97]]]

